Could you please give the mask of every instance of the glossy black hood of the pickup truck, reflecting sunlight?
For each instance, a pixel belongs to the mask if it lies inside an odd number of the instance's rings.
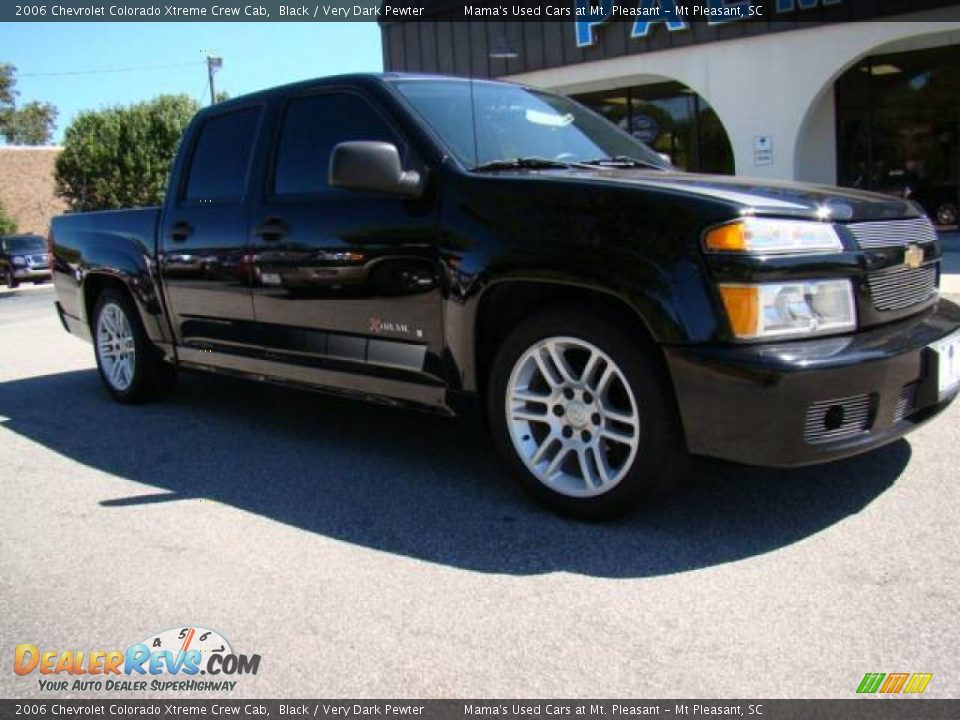
[[[696,196],[729,204],[736,212],[827,219],[838,222],[911,218],[922,211],[909,200],[831,185],[728,175],[624,168],[569,168],[536,171],[565,179],[628,185]]]

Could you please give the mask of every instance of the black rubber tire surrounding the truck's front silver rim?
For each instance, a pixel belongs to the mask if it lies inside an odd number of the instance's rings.
[[[615,363],[635,398],[635,415],[639,420],[638,447],[632,461],[629,457],[623,461],[621,479],[602,494],[575,497],[549,487],[527,467],[511,436],[506,401],[514,367],[527,356],[528,349],[549,338],[573,338],[599,349]],[[645,338],[576,309],[549,311],[531,317],[507,337],[491,368],[487,413],[499,451],[528,494],[564,515],[588,520],[608,519],[651,501],[683,475],[688,456],[670,379],[658,353],[659,350]],[[550,406],[545,407],[549,414]],[[599,419],[596,414],[592,417],[594,423]],[[601,420],[598,428],[606,422]],[[566,433],[567,428],[563,432]],[[574,434],[578,432],[574,431]],[[594,429],[594,432],[602,434],[602,430]],[[599,434],[597,442],[605,442]],[[524,439],[529,439],[529,435]],[[539,442],[534,439],[534,444]],[[596,464],[593,467],[597,467]]]

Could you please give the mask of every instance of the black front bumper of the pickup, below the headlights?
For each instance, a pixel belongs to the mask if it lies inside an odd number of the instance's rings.
[[[793,467],[896,440],[956,398],[957,389],[938,396],[936,356],[928,346],[958,328],[960,307],[941,300],[920,315],[849,336],[666,347],[687,447]],[[848,426],[825,431],[825,417]]]

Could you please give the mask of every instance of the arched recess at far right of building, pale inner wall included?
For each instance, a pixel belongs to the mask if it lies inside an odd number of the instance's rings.
[[[960,206],[956,29],[937,23],[878,25],[893,37],[843,58],[803,113],[795,176],[909,197],[936,224],[955,227]],[[857,50],[852,42],[837,46]]]

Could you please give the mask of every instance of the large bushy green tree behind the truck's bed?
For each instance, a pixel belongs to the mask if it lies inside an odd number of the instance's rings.
[[[199,105],[186,95],[81,113],[64,134],[57,191],[74,210],[158,205],[184,128]]]

